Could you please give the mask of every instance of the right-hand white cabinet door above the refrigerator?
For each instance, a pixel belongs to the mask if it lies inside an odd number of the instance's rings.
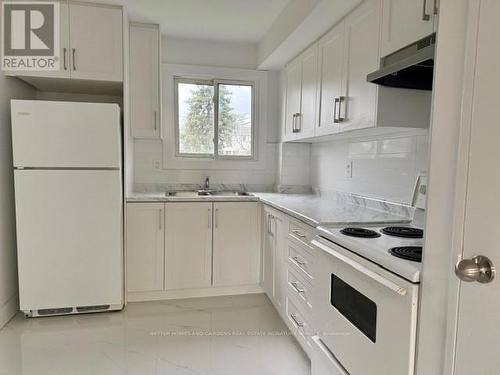
[[[121,8],[70,2],[71,78],[121,82]]]

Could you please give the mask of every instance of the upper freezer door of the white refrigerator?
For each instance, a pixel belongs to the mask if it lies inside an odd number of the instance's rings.
[[[119,168],[116,104],[12,100],[14,167]]]

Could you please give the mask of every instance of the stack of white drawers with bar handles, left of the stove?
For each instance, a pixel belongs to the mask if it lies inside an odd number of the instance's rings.
[[[286,244],[286,322],[307,354],[311,355],[314,334],[312,323],[312,265],[314,252],[311,241],[314,228],[290,220]]]

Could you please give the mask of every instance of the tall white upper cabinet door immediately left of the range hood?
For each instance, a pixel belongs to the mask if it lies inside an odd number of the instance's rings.
[[[380,0],[368,0],[346,19],[347,78],[340,130],[375,126],[377,85],[366,75],[379,66]]]

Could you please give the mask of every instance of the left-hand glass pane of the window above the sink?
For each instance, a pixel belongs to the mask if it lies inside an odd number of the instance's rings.
[[[208,84],[177,85],[179,153],[214,153],[214,87]]]

